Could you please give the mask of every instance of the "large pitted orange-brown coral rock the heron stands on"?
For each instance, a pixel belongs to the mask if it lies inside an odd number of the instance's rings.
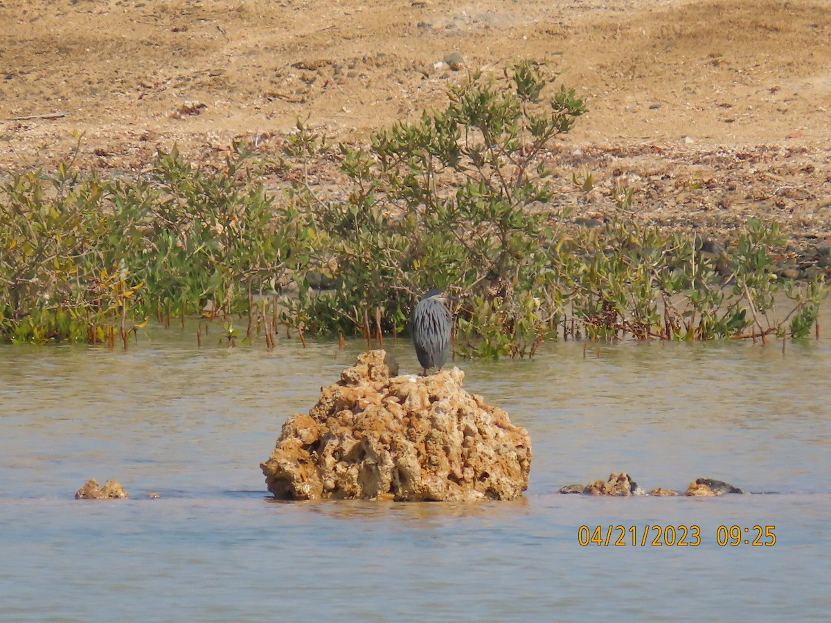
[[[396,376],[369,351],[283,424],[261,464],[277,498],[478,500],[528,488],[531,439],[504,410],[462,389],[458,368]]]

